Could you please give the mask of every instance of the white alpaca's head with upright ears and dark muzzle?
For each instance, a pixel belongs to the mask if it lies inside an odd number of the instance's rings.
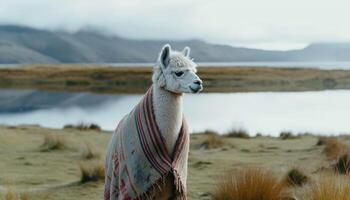
[[[178,52],[165,45],[153,73],[153,83],[173,93],[200,92],[203,89],[202,80],[197,76],[197,66],[189,55],[189,47]]]

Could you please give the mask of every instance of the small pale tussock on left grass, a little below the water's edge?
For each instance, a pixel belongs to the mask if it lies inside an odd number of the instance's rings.
[[[66,141],[62,135],[55,133],[45,133],[44,142],[40,146],[40,151],[47,152],[53,150],[62,150],[66,148]]]

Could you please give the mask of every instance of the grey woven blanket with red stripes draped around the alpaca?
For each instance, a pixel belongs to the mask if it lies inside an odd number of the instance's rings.
[[[118,124],[106,157],[105,200],[148,199],[173,176],[174,199],[186,199],[188,127],[183,120],[174,152],[168,153],[155,122],[152,87]],[[170,156],[171,155],[171,156]]]

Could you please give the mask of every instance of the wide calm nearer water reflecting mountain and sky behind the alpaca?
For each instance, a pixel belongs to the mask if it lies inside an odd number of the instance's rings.
[[[113,130],[141,95],[0,90],[0,124],[61,128],[90,122]],[[350,91],[186,95],[192,131],[244,128],[252,135],[280,131],[350,133]]]

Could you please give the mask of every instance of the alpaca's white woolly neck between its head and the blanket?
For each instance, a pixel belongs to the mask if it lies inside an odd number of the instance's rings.
[[[170,156],[182,125],[182,94],[175,94],[156,84],[153,86],[153,108],[156,123],[165,139]]]

